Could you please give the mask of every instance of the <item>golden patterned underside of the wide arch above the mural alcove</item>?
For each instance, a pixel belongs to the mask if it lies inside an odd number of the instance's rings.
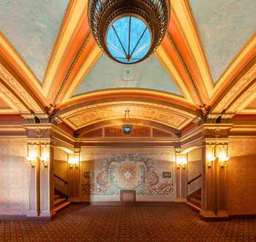
[[[131,118],[153,121],[179,130],[196,118],[193,113],[159,102],[127,101],[124,99],[83,103],[77,107],[61,110],[58,115],[72,129],[77,130],[100,121],[124,118],[124,112],[127,108],[129,108]]]

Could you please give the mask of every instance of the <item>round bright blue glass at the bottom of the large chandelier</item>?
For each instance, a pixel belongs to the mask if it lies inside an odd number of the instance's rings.
[[[124,64],[142,60],[151,48],[151,32],[140,18],[118,18],[109,27],[107,47],[110,55]]]

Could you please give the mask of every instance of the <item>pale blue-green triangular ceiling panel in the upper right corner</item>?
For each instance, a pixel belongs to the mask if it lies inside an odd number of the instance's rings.
[[[255,0],[190,0],[193,15],[216,82],[255,34]]]

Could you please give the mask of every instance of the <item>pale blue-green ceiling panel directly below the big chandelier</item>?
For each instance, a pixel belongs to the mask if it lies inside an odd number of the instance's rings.
[[[110,88],[147,88],[182,96],[156,56],[135,65],[118,64],[102,56],[80,83],[75,95]]]

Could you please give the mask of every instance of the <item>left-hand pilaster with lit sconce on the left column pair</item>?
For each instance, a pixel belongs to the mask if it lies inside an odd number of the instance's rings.
[[[40,214],[40,145],[37,140],[28,140],[27,159],[29,161],[29,211],[27,216]]]

